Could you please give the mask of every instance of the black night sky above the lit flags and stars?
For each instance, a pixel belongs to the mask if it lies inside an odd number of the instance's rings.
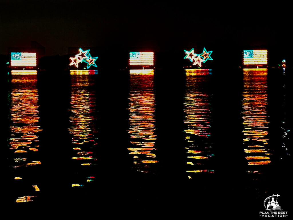
[[[0,53],[30,47],[31,41],[43,45],[46,55],[64,55],[68,47],[98,47],[116,55],[135,47],[292,48],[292,19],[284,5],[178,2],[0,1]]]

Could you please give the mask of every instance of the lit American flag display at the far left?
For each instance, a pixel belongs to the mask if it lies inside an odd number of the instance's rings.
[[[11,53],[12,67],[35,67],[37,66],[37,53]]]

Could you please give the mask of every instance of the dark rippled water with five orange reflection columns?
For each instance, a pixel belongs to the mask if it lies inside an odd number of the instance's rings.
[[[13,75],[9,210],[257,218],[278,193],[290,211],[290,73]]]

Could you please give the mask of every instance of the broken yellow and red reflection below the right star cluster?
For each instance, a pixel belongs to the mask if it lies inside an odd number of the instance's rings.
[[[208,74],[208,73],[207,73]],[[187,153],[187,170],[191,173],[213,173],[210,160],[212,153],[211,136],[211,95],[206,92],[208,76],[186,75],[185,112],[185,149]]]

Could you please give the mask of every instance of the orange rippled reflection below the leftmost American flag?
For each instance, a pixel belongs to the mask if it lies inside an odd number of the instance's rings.
[[[38,155],[38,133],[42,129],[39,126],[37,76],[12,75],[11,82],[9,148],[16,153],[16,157],[26,155],[29,160],[38,160],[35,156]],[[41,164],[40,161],[26,161],[26,158],[13,159],[16,162],[12,165],[14,168]]]

